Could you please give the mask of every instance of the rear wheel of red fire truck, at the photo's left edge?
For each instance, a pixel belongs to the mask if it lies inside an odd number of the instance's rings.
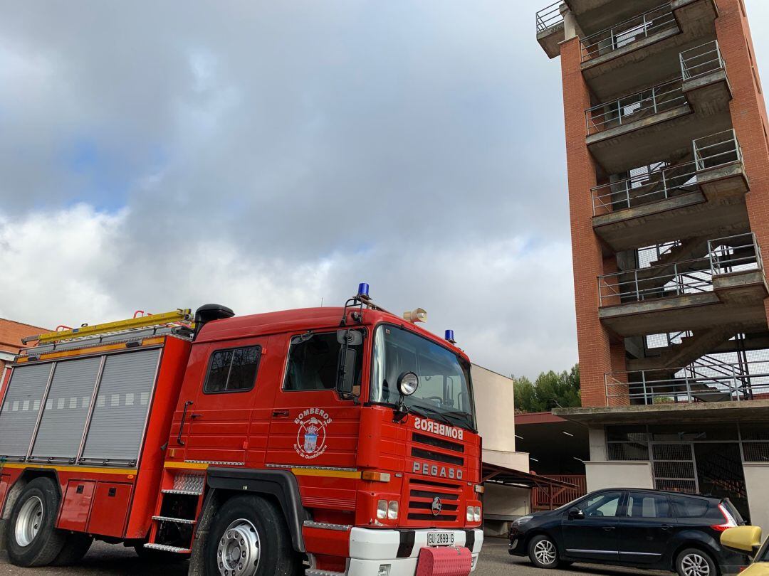
[[[8,522],[8,559],[16,566],[45,566],[64,548],[66,532],[55,528],[59,496],[49,478],[25,486]]]

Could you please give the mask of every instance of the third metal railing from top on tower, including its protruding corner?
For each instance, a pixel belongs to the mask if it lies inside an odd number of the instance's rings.
[[[657,164],[644,174],[592,188],[593,216],[692,192],[698,189],[697,173],[742,161],[742,149],[734,130],[698,138],[693,141],[693,148],[694,161]]]

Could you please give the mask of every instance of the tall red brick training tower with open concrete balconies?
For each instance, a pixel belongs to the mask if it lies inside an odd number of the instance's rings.
[[[730,497],[769,525],[769,121],[742,0],[564,0],[588,489]]]

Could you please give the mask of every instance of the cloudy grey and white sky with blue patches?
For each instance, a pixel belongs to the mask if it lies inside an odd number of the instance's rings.
[[[2,0],[0,316],[257,313],[367,281],[498,372],[571,366],[547,3]]]

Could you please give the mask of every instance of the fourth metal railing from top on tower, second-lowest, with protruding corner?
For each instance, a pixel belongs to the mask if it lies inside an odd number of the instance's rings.
[[[753,233],[707,241],[707,256],[598,276],[599,306],[711,292],[715,276],[763,270]]]

